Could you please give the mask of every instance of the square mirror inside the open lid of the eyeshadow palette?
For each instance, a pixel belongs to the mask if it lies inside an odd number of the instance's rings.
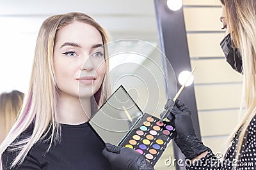
[[[142,114],[140,108],[121,85],[90,118],[89,124],[104,143],[119,145]]]

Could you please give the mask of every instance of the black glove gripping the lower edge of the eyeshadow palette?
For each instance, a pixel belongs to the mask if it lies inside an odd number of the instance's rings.
[[[115,170],[154,170],[154,167],[136,150],[106,143],[102,154]]]

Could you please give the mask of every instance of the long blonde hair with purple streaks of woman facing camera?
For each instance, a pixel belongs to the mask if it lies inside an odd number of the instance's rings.
[[[53,67],[54,41],[56,32],[61,27],[65,27],[65,25],[71,24],[74,21],[92,25],[100,32],[103,44],[106,45],[108,43],[108,32],[95,22],[92,17],[84,13],[72,12],[63,15],[54,15],[44,21],[36,39],[33,71],[31,73],[26,101],[24,101],[17,122],[15,122],[10,133],[0,146],[1,155],[8,146],[11,146],[10,148],[18,153],[12,162],[12,167],[21,164],[29,150],[38,141],[45,141],[45,138],[50,141],[47,151],[49,151],[52,145],[60,142],[60,123],[58,123],[57,111],[59,90],[56,86]],[[108,59],[106,59],[108,57],[107,48],[104,48],[104,54],[107,74],[109,66]],[[106,97],[109,94],[106,74],[100,89],[95,93],[95,99],[99,106],[106,101]],[[29,125],[33,125],[31,136],[13,143],[22,132],[28,129]]]

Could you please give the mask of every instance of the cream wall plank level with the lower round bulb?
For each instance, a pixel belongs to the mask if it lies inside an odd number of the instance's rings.
[[[243,76],[232,69],[226,59],[191,60],[191,67],[196,67],[196,83],[222,83],[242,81]]]

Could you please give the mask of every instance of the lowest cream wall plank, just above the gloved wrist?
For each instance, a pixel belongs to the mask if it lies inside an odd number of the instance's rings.
[[[202,138],[205,146],[211,148],[214,153],[222,153],[224,155],[228,149],[228,137],[229,136],[219,136],[216,138]]]

